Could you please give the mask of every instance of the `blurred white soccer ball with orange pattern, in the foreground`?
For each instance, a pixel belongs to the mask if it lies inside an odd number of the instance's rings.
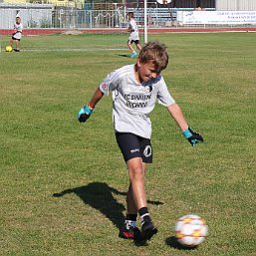
[[[208,227],[198,215],[184,215],[175,224],[175,237],[186,247],[195,247],[205,240]]]

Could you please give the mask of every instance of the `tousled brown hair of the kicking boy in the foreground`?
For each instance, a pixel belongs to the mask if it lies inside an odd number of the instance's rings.
[[[157,73],[160,73],[168,65],[168,54],[166,53],[166,46],[159,42],[149,42],[141,49],[138,59],[142,64],[152,61]]]

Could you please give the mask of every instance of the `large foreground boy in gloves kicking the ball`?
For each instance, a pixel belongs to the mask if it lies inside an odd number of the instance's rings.
[[[123,238],[147,241],[157,232],[148,213],[144,189],[145,164],[152,162],[149,113],[156,100],[166,107],[191,145],[203,141],[200,134],[188,127],[160,75],[168,64],[165,48],[158,42],[146,44],[136,64],[111,73],[95,91],[91,102],[78,113],[78,120],[86,122],[102,97],[113,92],[114,128],[129,174],[127,217],[120,230]],[[136,227],[137,213],[141,220],[141,233]]]

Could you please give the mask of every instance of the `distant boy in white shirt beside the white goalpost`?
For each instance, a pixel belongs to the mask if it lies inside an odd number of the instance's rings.
[[[131,51],[131,55],[129,58],[134,58],[137,56],[137,53],[132,47],[132,43],[135,44],[136,48],[140,51],[141,46],[139,45],[139,37],[138,37],[138,29],[136,26],[136,22],[134,20],[134,16],[132,12],[128,12],[128,32],[129,32],[129,37],[128,37],[128,49]]]

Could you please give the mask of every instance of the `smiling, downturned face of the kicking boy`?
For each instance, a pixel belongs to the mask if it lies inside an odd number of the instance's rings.
[[[155,79],[160,72],[157,71],[153,61],[149,61],[148,63],[141,63],[139,59],[136,62],[137,65],[137,74],[138,81],[142,83],[143,81],[149,81],[151,79]]]

